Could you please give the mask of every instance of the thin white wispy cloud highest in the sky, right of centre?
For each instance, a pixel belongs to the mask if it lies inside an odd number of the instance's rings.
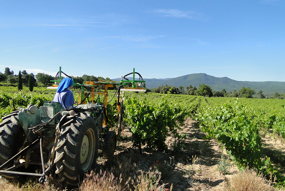
[[[157,9],[153,10],[153,13],[163,15],[165,17],[186,18],[194,20],[205,20],[207,17],[202,13],[195,11],[180,11],[178,9]]]

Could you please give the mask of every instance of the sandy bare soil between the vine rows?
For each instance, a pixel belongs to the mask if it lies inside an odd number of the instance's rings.
[[[129,129],[124,129],[122,133],[127,139],[118,141],[115,155],[132,146]],[[148,172],[155,162],[170,164],[172,169],[162,179],[162,182],[167,184],[166,188],[168,189],[173,184],[173,191],[224,190],[227,180],[233,174],[239,173],[237,166],[228,159],[225,149],[222,150],[221,144],[217,143],[216,140],[203,140],[205,134],[200,131],[196,122],[191,119],[186,120],[180,133],[186,133],[186,140],[183,152],[177,157],[170,154],[169,148],[171,148],[171,143],[175,141],[175,138],[169,136],[166,139],[169,152],[151,151],[149,153],[142,148],[142,155],[140,155],[137,167]],[[269,155],[270,158],[278,153],[278,156],[276,155],[278,162],[285,164],[285,147],[280,139],[273,139],[264,134],[262,140],[264,144],[263,152],[267,156]],[[217,170],[222,155],[225,156],[228,164],[228,174],[226,175]]]

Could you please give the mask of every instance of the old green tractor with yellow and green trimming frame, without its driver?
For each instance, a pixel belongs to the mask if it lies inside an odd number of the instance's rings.
[[[60,67],[58,80],[53,82],[60,83],[62,73],[65,74]],[[126,78],[130,74],[133,80]],[[74,82],[73,86],[81,87],[79,104],[75,108],[63,109],[58,102],[45,101],[39,109],[31,104],[3,117],[0,124],[1,176],[10,181],[20,175],[40,176],[42,182],[46,174],[54,170],[62,184],[78,185],[84,174],[95,166],[98,149],[102,149],[106,159],[114,155],[122,125],[121,92],[145,91],[135,85],[145,82],[135,68],[130,74],[120,82]],[[139,74],[139,80],[135,80],[135,74]],[[127,83],[132,83],[132,87],[124,88]],[[118,127],[111,125],[106,109],[108,88],[114,85],[117,86]],[[42,173],[35,172],[39,168]]]

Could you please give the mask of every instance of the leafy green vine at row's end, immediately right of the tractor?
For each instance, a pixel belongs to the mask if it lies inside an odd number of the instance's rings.
[[[169,103],[166,96],[152,104],[134,97],[125,100],[126,120],[131,126],[134,146],[146,144],[151,149],[166,150],[164,141],[168,133],[177,135],[187,113],[178,104]]]

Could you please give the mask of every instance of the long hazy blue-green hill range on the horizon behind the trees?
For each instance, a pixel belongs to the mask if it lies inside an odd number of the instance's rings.
[[[129,78],[130,80],[132,78]],[[115,81],[120,81],[121,78],[113,79]],[[250,87],[255,90],[257,93],[259,90],[263,91],[265,96],[271,96],[276,91],[280,94],[285,93],[285,82],[274,82],[274,81],[266,81],[266,82],[249,82],[249,81],[237,81],[232,80],[227,77],[217,78],[215,76],[210,76],[204,73],[198,74],[188,74],[185,76],[180,76],[177,78],[165,78],[165,79],[144,79],[146,81],[146,88],[152,89],[157,88],[158,86],[167,84],[168,86],[179,87],[184,86],[186,90],[186,86],[190,84],[192,86],[199,87],[199,84],[206,84],[210,86],[215,91],[221,91],[225,89],[227,92],[233,92],[233,90],[240,90],[242,87]]]

